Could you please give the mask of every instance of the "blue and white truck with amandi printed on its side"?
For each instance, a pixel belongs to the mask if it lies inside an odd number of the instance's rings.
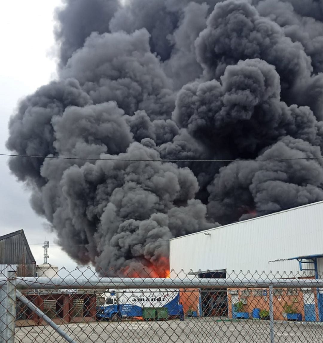
[[[97,319],[143,318],[145,309],[166,308],[168,316],[180,316],[178,289],[113,289],[98,297]]]

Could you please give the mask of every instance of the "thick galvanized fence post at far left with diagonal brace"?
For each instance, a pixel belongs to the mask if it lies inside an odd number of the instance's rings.
[[[8,271],[8,281],[0,287],[0,341],[14,343],[16,318],[16,272]]]

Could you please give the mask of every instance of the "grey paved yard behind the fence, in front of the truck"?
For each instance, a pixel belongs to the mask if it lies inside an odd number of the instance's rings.
[[[259,320],[221,321],[215,318],[191,318],[144,322],[97,322],[61,326],[78,343],[88,342],[270,342],[269,322]],[[15,343],[65,342],[49,326],[16,329]],[[275,322],[275,343],[323,342],[319,323]]]

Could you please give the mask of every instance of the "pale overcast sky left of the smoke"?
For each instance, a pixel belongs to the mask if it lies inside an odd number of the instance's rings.
[[[3,1],[0,12],[0,153],[7,153],[8,120],[20,98],[55,79],[53,12],[60,0]],[[0,156],[0,235],[24,229],[37,264],[43,263],[42,244],[50,241],[48,262],[72,270],[76,263],[45,229],[45,220],[29,204],[30,193],[9,172],[7,157]]]

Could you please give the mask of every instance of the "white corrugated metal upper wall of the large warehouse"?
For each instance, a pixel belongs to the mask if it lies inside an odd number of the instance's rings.
[[[170,240],[170,268],[299,272],[287,259],[323,253],[323,201]]]

